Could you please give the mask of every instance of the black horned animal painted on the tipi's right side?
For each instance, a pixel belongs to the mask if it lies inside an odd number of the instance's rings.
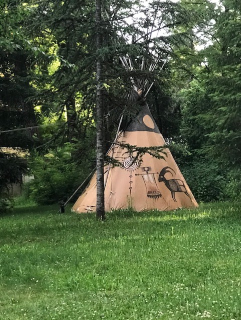
[[[171,171],[168,169],[170,169]],[[174,172],[174,174],[176,174],[176,172],[170,166],[165,166],[159,174],[158,181],[165,183],[166,187],[171,191],[171,196],[172,196],[173,200],[176,202],[176,198],[175,198],[176,192],[184,192],[189,198],[191,198],[190,195],[188,194],[186,187],[184,185],[184,182],[182,180],[180,180],[180,179],[166,179],[165,178],[165,174],[168,172],[171,173],[172,176],[174,176],[172,172]]]

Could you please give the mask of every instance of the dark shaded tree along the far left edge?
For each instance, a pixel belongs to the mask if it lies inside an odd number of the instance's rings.
[[[31,96],[35,89],[31,85],[31,50],[23,26],[32,11],[26,1],[4,0],[0,4],[0,194],[6,192],[11,183],[21,182],[27,171],[27,162],[20,149],[34,145],[36,130],[16,128],[35,126],[37,118]],[[18,148],[18,152],[16,152]]]

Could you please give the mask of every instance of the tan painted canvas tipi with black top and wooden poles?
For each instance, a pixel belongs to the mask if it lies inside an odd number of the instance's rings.
[[[130,58],[121,57],[121,61],[127,69],[133,69]],[[156,64],[157,62],[153,62],[149,65],[149,70],[153,70]],[[118,132],[108,152],[108,155],[121,162],[121,166],[105,167],[105,210],[131,207],[136,211],[163,211],[179,207],[197,207],[198,204],[168,148],[164,149],[164,158],[155,158],[145,153],[138,159],[130,157],[127,149],[121,145],[128,143],[138,147],[152,147],[166,144],[145,100],[153,83],[147,89],[146,81],[133,77],[131,81],[136,100],[140,99],[144,103],[136,118],[125,130]],[[96,211],[96,174],[72,210]]]

